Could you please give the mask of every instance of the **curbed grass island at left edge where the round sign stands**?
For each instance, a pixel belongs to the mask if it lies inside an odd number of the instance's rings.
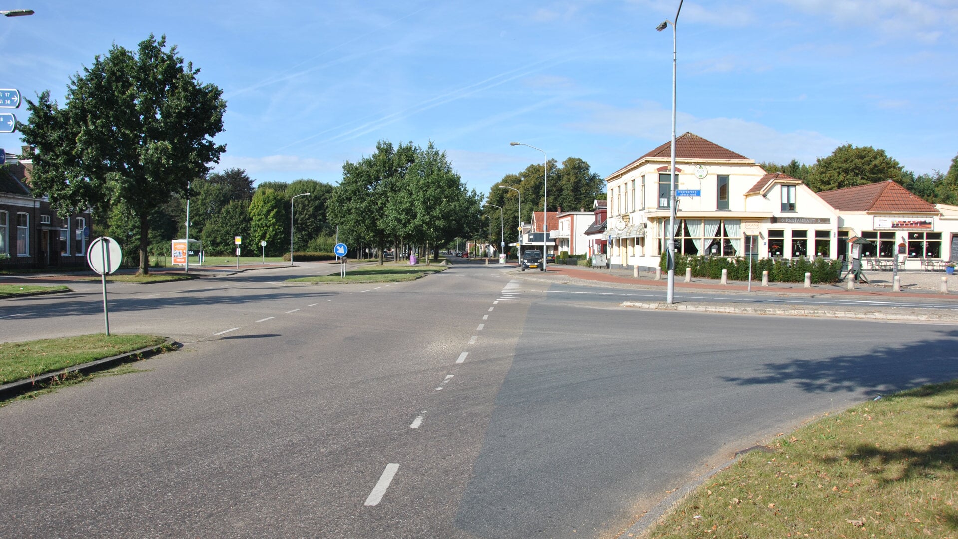
[[[140,348],[162,345],[152,335],[80,335],[0,344],[0,384],[59,371]]]

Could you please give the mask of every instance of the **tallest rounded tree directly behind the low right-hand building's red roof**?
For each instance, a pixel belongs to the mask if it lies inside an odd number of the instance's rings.
[[[820,157],[811,168],[809,187],[814,191],[831,191],[875,182],[894,180],[901,183],[902,168],[898,161],[872,146],[838,146],[832,155]]]

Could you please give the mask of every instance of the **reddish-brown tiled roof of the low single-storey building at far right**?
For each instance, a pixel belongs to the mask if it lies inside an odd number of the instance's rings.
[[[842,212],[939,213],[934,206],[891,180],[821,191],[818,196]]]

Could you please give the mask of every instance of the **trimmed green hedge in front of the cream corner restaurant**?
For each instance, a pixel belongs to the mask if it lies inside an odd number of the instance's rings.
[[[659,267],[666,271],[667,254],[659,258]],[[721,270],[728,270],[729,281],[748,281],[748,258],[744,257],[702,257],[675,255],[675,274],[685,275],[685,269],[692,268],[692,276],[700,279],[721,279]],[[826,258],[759,258],[752,261],[752,275],[761,276],[768,272],[769,282],[804,282],[805,274],[811,274],[813,283],[833,283],[839,281],[841,260]]]

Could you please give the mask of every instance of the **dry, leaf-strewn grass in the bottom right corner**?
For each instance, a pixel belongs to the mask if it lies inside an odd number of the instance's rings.
[[[779,435],[645,537],[958,537],[958,380]]]

